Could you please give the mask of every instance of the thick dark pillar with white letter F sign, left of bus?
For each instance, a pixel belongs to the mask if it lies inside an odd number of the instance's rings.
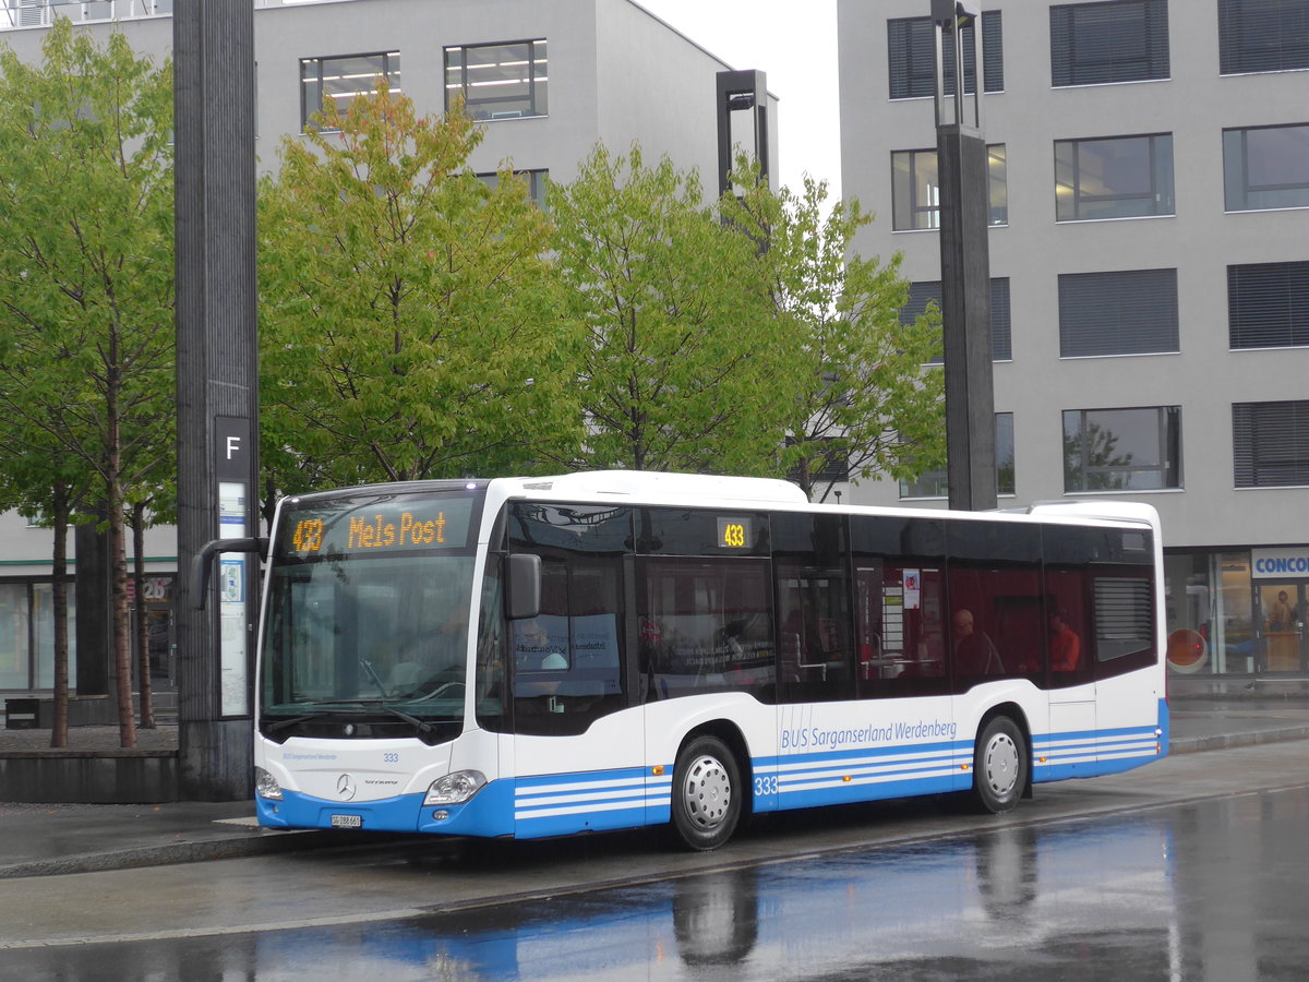
[[[254,4],[173,13],[177,130],[178,568],[233,530],[257,532]],[[178,748],[188,800],[253,788],[255,570],[232,563],[221,600],[192,609],[178,576]]]

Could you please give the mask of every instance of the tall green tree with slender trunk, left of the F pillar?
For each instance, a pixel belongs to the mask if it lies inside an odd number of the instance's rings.
[[[60,458],[47,488],[63,466],[98,484],[123,746],[136,744],[124,515],[174,467],[171,111],[170,64],[122,35],[101,46],[59,20],[41,65],[0,52],[0,418]]]

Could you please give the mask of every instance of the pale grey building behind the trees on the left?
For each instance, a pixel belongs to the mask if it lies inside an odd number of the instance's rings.
[[[717,192],[716,75],[732,69],[631,0],[300,0],[255,3],[255,134],[260,173],[279,166],[322,100],[344,103],[381,75],[419,114],[442,113],[454,93],[486,123],[470,165],[503,162],[571,181],[603,143],[696,168]],[[0,45],[38,62],[52,17],[106,38],[122,31],[157,63],[171,55],[173,0],[0,0]],[[774,102],[770,100],[770,102]],[[770,115],[775,118],[775,106]],[[770,128],[776,160],[776,127]],[[0,697],[52,685],[51,533],[0,516]],[[137,621],[151,635],[156,687],[171,672],[177,543],[171,528],[147,537],[148,597]],[[73,656],[76,657],[76,656]],[[75,673],[73,673],[75,674]]]

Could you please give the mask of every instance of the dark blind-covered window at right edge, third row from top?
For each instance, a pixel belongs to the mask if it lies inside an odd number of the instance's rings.
[[[1309,346],[1309,262],[1228,266],[1233,348]]]

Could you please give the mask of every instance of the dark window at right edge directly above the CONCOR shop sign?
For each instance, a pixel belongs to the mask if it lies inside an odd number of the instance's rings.
[[[1309,484],[1309,399],[1232,406],[1237,487]]]

